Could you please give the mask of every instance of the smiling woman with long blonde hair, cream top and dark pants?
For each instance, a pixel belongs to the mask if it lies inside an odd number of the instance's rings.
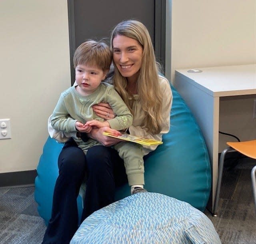
[[[162,140],[170,129],[172,92],[164,77],[158,75],[158,66],[150,35],[139,21],[119,23],[111,34],[114,75],[111,81],[134,116],[131,135]],[[106,103],[94,106],[94,112],[104,118],[115,117]],[[91,137],[102,146],[88,150],[85,156],[71,138],[49,127],[52,138],[66,141],[58,158],[59,177],[53,196],[52,218],[43,243],[69,243],[78,228],[76,198],[80,185],[87,176],[83,221],[94,211],[114,202],[115,187],[127,182],[124,163],[112,145],[120,140],[102,135],[111,132],[108,127],[92,129],[82,139]],[[144,155],[157,146],[144,147]],[[140,193],[144,194],[144,193]]]

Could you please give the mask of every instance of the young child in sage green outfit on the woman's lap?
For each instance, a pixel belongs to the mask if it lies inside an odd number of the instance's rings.
[[[74,53],[73,62],[76,70],[76,84],[60,95],[52,114],[52,127],[64,133],[75,131],[90,133],[94,126],[110,127],[116,130],[118,135],[119,131],[132,125],[132,114],[120,95],[112,85],[102,82],[112,62],[112,53],[107,44],[93,40],[82,43]],[[116,114],[114,119],[105,121],[93,112],[92,105],[100,102],[111,106]],[[89,137],[86,139],[73,137],[73,139],[85,154],[90,147],[101,145]],[[146,192],[143,188],[142,146],[136,143],[120,142],[113,147],[124,160],[131,194]]]

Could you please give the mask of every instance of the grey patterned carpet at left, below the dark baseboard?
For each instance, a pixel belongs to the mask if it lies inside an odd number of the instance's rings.
[[[0,243],[42,243],[46,226],[38,216],[34,187],[0,189]]]

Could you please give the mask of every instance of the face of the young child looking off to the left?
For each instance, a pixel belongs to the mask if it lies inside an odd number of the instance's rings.
[[[103,71],[95,65],[79,64],[76,66],[76,90],[81,95],[93,93],[100,82],[105,79],[107,71]]]

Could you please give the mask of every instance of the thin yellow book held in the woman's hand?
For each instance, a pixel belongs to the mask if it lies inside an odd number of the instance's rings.
[[[114,137],[114,138],[118,138],[124,141],[131,141],[131,142],[135,142],[141,145],[146,145],[146,146],[152,146],[152,145],[160,145],[163,144],[162,141],[156,141],[153,139],[146,139],[146,138],[142,138],[142,137],[137,137],[135,135],[129,135],[129,134],[124,134],[121,133],[121,135],[114,135],[112,133],[109,132],[103,132],[103,135],[107,135],[109,137]]]

